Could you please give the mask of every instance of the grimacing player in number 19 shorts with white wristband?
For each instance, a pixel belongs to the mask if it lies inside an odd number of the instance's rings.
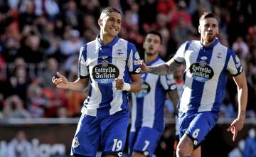
[[[134,44],[118,38],[121,13],[107,7],[100,14],[100,35],[80,48],[78,80],[68,82],[57,72],[58,88],[85,90],[88,97],[75,132],[71,156],[122,156],[129,124],[128,92],[142,89],[141,60]]]

